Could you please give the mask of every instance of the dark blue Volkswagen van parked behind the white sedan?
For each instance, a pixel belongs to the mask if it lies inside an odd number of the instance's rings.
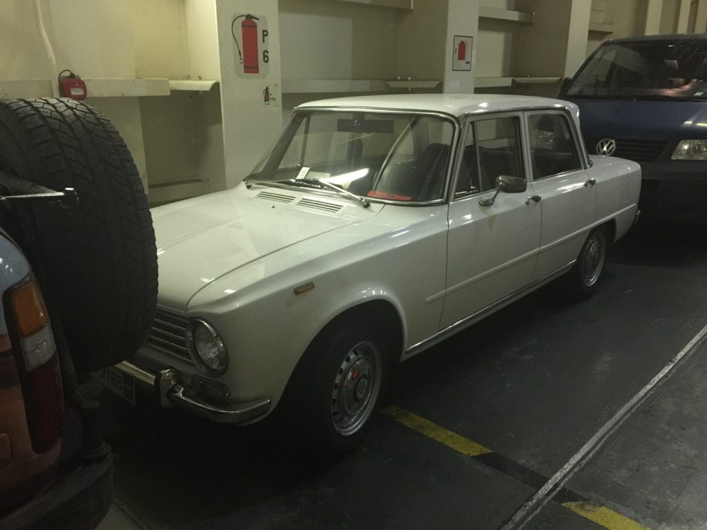
[[[707,35],[604,42],[560,97],[590,153],[641,164],[644,213],[707,220]]]

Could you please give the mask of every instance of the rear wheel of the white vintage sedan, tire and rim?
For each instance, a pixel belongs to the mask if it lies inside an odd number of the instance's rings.
[[[597,290],[607,263],[609,234],[604,226],[589,232],[577,257],[577,262],[566,276],[568,290],[575,300],[585,300]]]

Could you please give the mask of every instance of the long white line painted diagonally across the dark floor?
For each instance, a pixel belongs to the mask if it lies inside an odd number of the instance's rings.
[[[650,382],[645,385],[638,394],[633,396],[631,400],[626,403],[621,409],[614,414],[614,416],[604,423],[602,428],[598,430],[590,440],[584,444],[582,449],[580,449],[567,463],[562,466],[557,473],[555,473],[545,485],[540,488],[535,495],[532,496],[530,500],[525,502],[520,509],[515,512],[513,517],[501,527],[501,530],[518,530],[521,529],[530,519],[535,517],[537,513],[542,510],[544,505],[546,505],[556,493],[563,488],[563,486],[579,471],[583,466],[591,459],[591,457],[602,447],[604,442],[606,442],[609,437],[614,433],[617,428],[624,423],[626,418],[628,418],[631,413],[638,408],[638,406],[645,401],[645,399],[650,396],[650,394],[657,389],[660,384],[665,382],[667,377],[670,377],[671,371],[680,364],[681,360],[686,360],[692,355],[697,348],[699,348],[702,341],[705,340],[707,336],[707,325],[704,326],[701,331],[692,338],[689,343],[685,345],[684,348],[675,355],[674,358],[670,360],[667,365],[658,372],[658,374],[650,379]]]

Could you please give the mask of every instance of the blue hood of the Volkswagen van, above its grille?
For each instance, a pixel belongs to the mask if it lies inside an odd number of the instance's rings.
[[[569,99],[579,106],[585,137],[707,138],[707,102]]]

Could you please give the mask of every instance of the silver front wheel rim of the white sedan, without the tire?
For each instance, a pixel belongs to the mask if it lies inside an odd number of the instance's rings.
[[[378,347],[363,341],[346,354],[332,387],[332,423],[339,434],[359,430],[375,407],[380,392],[381,357]]]

